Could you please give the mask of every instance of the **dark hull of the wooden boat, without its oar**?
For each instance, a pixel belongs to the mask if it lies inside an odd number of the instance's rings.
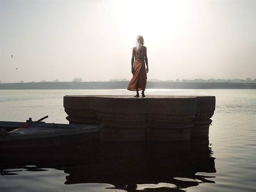
[[[52,124],[50,124],[53,126]],[[64,124],[54,124],[64,125]],[[36,125],[32,125],[36,126]],[[11,131],[7,136],[0,137],[0,149],[20,149],[20,148],[42,148],[53,146],[75,146],[81,143],[98,140],[99,132],[104,125],[65,128],[47,127],[47,124],[37,125],[30,128],[19,128]],[[43,129],[40,132],[38,130]],[[49,129],[49,130],[48,130]],[[56,130],[55,130],[56,129]]]

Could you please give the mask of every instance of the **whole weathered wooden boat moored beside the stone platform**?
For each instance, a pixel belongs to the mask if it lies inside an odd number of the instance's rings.
[[[0,121],[0,150],[74,145],[97,140],[105,124],[55,124]]]

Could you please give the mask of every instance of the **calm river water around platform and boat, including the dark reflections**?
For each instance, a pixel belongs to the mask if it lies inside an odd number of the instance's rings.
[[[256,191],[256,90],[151,89],[146,93],[215,95],[209,140],[0,153],[0,191]],[[48,115],[47,123],[68,123],[63,96],[91,94],[134,93],[0,90],[0,120],[37,120]]]

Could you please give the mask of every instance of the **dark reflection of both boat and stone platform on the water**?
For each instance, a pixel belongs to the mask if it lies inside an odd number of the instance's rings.
[[[66,185],[107,183],[114,186],[108,189],[128,192],[185,191],[200,183],[214,183],[214,176],[204,176],[216,172],[208,144],[208,139],[182,144],[90,143],[79,148],[5,153],[1,175],[54,168],[68,174]]]

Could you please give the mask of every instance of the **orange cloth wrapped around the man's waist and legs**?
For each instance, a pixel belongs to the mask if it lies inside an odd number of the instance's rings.
[[[127,89],[130,91],[136,91],[136,88],[138,87],[138,90],[145,90],[146,89],[146,83],[147,83],[147,73],[145,68],[145,61],[138,61],[135,60],[133,64],[133,76],[128,84]]]

